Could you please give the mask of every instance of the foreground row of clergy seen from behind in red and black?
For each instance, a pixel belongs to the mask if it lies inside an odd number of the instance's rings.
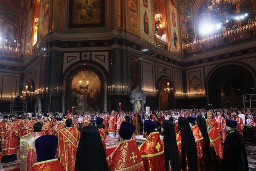
[[[197,124],[191,128],[189,122]],[[43,135],[42,123],[34,124],[34,133],[20,140],[21,170],[248,170],[245,145],[236,129],[236,120],[226,120],[224,149],[216,126],[208,132],[210,125],[202,116],[196,120],[179,117],[177,135],[172,121],[165,120],[161,132],[163,140],[159,132],[155,132],[156,123],[145,120],[143,136],[146,140],[139,147],[133,138],[135,127],[124,121],[118,131],[120,143],[109,156],[106,156],[106,131],[102,123],[103,119],[97,117],[97,127],[83,127],[80,140],[79,131],[72,128],[72,119],[65,121],[65,128],[58,131],[58,136]]]

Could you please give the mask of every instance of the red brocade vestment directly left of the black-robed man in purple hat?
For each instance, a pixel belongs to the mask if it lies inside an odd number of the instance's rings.
[[[223,147],[221,144],[221,137],[218,133],[218,129],[215,127],[211,128],[208,132],[211,146],[211,158],[212,168],[211,170],[222,170],[222,159],[223,159]]]

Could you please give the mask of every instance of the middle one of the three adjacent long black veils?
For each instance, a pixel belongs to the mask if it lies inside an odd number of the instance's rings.
[[[186,168],[187,154],[189,170],[198,171],[196,142],[188,119],[179,117],[178,127],[181,130],[181,169]]]

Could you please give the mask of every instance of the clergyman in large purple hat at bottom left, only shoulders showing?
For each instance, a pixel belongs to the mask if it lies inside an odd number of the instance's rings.
[[[43,135],[35,140],[37,163],[30,171],[65,171],[58,159],[55,158],[58,138],[54,135]]]

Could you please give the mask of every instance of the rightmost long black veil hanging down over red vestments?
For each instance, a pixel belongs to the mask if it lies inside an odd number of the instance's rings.
[[[212,158],[211,158],[211,150],[210,150],[210,138],[208,135],[208,131],[207,131],[207,126],[206,126],[206,122],[205,122],[205,118],[203,118],[202,116],[197,116],[196,117],[196,121],[198,123],[198,127],[204,137],[204,144],[205,147],[207,149],[207,153],[208,153],[208,159],[210,164],[212,164]]]

